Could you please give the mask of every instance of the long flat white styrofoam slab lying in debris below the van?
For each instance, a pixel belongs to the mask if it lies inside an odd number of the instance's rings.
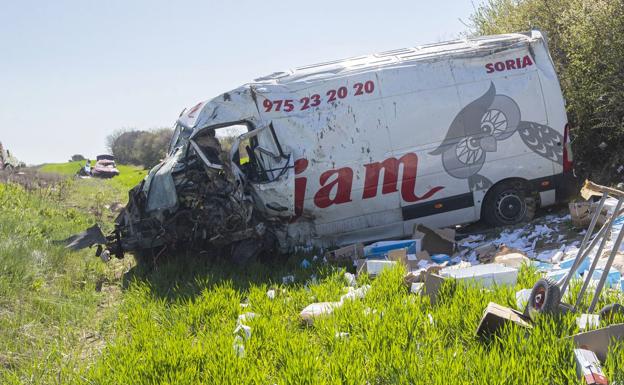
[[[489,263],[461,269],[445,268],[440,270],[440,275],[462,281],[473,281],[484,287],[490,287],[492,285],[515,285],[518,280],[518,269]]]

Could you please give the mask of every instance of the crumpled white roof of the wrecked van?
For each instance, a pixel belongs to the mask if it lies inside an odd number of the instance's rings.
[[[487,55],[497,51],[526,45],[542,39],[541,32],[480,36],[460,40],[425,44],[411,48],[394,49],[372,55],[351,57],[324,63],[306,65],[290,71],[275,72],[254,79],[252,84],[289,84],[312,82],[344,76],[353,72],[366,72],[380,67],[427,60],[441,60],[449,57]]]

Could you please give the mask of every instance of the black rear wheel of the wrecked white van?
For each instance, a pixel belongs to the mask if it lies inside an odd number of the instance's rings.
[[[482,217],[491,226],[515,225],[535,216],[537,200],[522,181],[492,187],[483,203]]]

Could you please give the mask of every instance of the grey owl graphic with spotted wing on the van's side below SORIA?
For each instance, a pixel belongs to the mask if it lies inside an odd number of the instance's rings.
[[[498,142],[516,132],[531,151],[553,162],[562,162],[562,135],[546,125],[523,121],[516,102],[497,94],[494,83],[485,94],[462,108],[440,146],[430,154],[442,155],[446,172],[454,178],[466,179],[471,191],[487,190],[492,181],[479,174],[487,153],[496,152]]]

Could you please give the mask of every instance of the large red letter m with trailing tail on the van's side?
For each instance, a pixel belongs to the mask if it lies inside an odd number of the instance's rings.
[[[396,158],[388,158],[383,162],[375,162],[364,165],[366,174],[364,177],[364,191],[362,199],[373,198],[377,196],[379,185],[379,173],[384,170],[383,185],[381,187],[382,194],[389,194],[397,191],[397,182],[399,174],[399,165],[403,165],[403,175],[401,178],[401,197],[406,202],[416,202],[427,199],[436,192],[443,189],[441,186],[434,187],[427,191],[423,196],[418,196],[416,190],[416,174],[418,172],[418,156],[414,153],[403,155],[398,160]]]

